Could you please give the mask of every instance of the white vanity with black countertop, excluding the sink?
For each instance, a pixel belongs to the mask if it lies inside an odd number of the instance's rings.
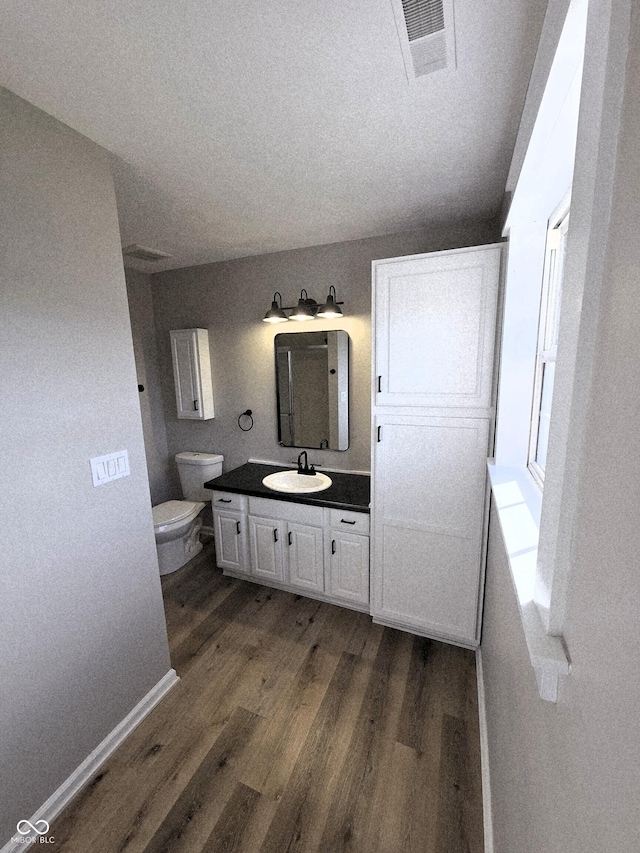
[[[248,462],[206,483],[226,575],[369,611],[370,478],[330,472],[328,489],[274,492],[283,466]]]

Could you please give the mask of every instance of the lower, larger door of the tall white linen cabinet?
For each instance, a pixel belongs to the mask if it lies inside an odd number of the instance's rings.
[[[375,426],[372,615],[475,645],[489,421],[380,415]]]

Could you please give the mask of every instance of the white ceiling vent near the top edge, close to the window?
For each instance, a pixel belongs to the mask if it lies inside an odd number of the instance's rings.
[[[456,67],[453,0],[391,0],[409,82]]]

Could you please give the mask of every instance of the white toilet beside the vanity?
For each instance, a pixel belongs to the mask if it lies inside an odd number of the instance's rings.
[[[222,474],[223,461],[224,457],[217,453],[176,454],[185,500],[165,501],[152,510],[161,575],[177,571],[202,551],[202,519],[198,516],[211,500],[211,492],[204,488],[204,483]]]

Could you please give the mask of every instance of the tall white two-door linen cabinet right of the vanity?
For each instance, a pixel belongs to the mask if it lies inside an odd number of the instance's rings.
[[[373,262],[371,613],[475,648],[504,244]]]

